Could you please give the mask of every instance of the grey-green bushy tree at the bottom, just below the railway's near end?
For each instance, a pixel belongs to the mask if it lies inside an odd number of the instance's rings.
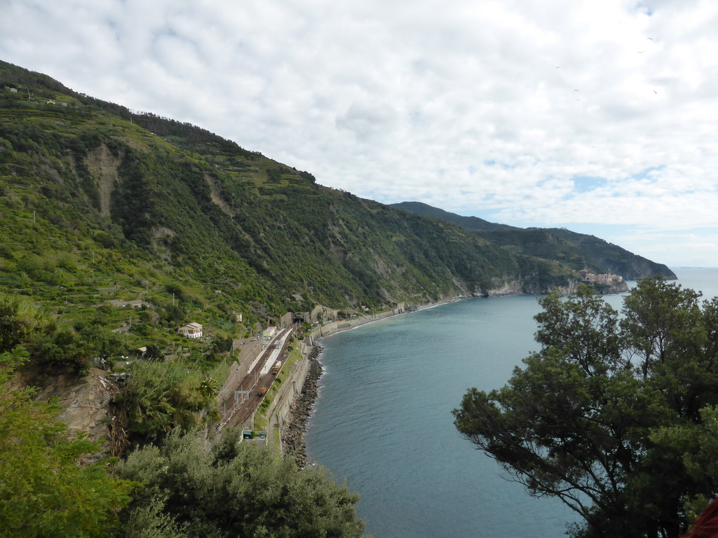
[[[271,450],[237,443],[210,445],[175,430],[160,447],[131,453],[118,466],[143,484],[123,512],[123,537],[358,538],[356,494],[321,468],[298,469]]]

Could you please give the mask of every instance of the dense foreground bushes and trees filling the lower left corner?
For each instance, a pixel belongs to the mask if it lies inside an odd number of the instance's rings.
[[[126,415],[134,443],[123,448],[134,450],[123,461],[89,463],[99,443],[67,433],[59,407],[23,388],[24,377],[37,375],[27,350],[57,341],[52,316],[2,300],[0,329],[3,537],[362,536],[358,497],[325,471],[240,444],[236,430],[213,434],[206,412],[216,387],[181,357],[132,370],[113,423]],[[62,354],[77,344],[52,346]]]

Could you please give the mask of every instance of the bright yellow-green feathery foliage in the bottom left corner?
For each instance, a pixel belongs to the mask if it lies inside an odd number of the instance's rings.
[[[0,529],[7,538],[104,537],[129,503],[131,483],[103,464],[78,465],[96,443],[67,440],[57,411],[34,402],[32,390],[11,390],[27,359],[22,347],[0,354]]]

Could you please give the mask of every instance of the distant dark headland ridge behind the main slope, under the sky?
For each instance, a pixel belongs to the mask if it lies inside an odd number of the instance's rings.
[[[625,248],[594,235],[579,234],[565,228],[524,230],[495,224],[477,217],[462,217],[420,202],[401,202],[391,206],[410,213],[447,220],[466,230],[475,230],[478,236],[512,253],[560,260],[576,271],[587,269],[597,274],[613,273],[623,276],[626,280],[637,280],[658,274],[668,280],[676,279],[675,273],[666,265],[630,253]]]

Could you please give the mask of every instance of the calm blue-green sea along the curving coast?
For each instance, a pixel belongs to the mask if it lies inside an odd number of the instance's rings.
[[[718,296],[718,269],[674,272],[684,288]],[[530,496],[453,424],[468,388],[503,387],[538,349],[536,299],[465,299],[322,339],[307,455],[360,494],[366,532],[559,538],[577,521],[559,499]],[[605,300],[620,310],[623,295]]]

